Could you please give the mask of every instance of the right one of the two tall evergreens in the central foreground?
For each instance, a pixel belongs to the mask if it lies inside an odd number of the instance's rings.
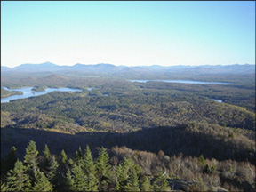
[[[96,162],[97,178],[99,180],[99,190],[108,190],[110,181],[111,165],[106,148],[100,148],[99,157]]]

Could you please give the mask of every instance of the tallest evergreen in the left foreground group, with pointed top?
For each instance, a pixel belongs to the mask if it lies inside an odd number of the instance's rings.
[[[36,150],[36,142],[30,140],[28,143],[28,147],[26,148],[26,154],[24,156],[24,163],[28,167],[28,172],[33,180],[36,179],[36,171],[38,169],[37,156],[38,151]]]

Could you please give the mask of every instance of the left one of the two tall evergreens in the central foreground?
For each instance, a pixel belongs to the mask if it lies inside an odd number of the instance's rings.
[[[89,146],[86,146],[85,152],[84,152],[84,164],[83,164],[83,170],[86,175],[86,190],[87,191],[96,191],[98,189],[98,179],[96,177],[96,167],[93,163],[93,157],[92,152],[89,148]]]

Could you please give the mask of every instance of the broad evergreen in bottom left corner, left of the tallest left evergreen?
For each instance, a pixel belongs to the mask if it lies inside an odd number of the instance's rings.
[[[29,191],[31,188],[29,176],[26,174],[26,166],[19,159],[14,164],[13,170],[7,173],[6,180],[9,191]]]

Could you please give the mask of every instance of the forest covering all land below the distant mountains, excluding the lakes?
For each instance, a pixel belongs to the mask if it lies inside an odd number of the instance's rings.
[[[254,191],[255,74],[145,76],[1,76],[82,90],[1,103],[1,191]]]

